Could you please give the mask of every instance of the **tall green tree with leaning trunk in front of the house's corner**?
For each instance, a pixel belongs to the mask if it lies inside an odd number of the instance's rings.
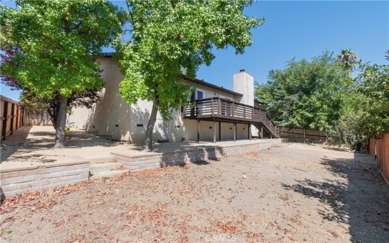
[[[251,1],[137,1],[128,0],[131,38],[119,43],[124,80],[120,94],[135,104],[153,102],[147,124],[145,149],[152,149],[153,129],[159,111],[169,120],[171,112],[187,104],[192,88],[181,83],[181,67],[195,77],[202,64],[210,65],[212,48],[228,46],[243,53],[251,44],[251,28],[263,18],[248,17],[243,9]]]

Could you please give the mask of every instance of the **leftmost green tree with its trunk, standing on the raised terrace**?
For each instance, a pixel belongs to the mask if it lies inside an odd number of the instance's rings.
[[[121,32],[121,11],[105,0],[18,0],[1,6],[1,71],[39,100],[58,96],[54,147],[63,147],[68,98],[100,89],[101,48]]]

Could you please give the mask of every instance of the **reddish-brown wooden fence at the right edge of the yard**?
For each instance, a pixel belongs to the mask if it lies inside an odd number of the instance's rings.
[[[370,139],[369,153],[375,156],[382,174],[389,180],[389,133],[381,135],[378,139]]]

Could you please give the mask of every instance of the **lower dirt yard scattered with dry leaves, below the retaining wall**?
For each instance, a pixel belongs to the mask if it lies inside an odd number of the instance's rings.
[[[282,144],[5,199],[2,242],[388,242],[371,156]]]

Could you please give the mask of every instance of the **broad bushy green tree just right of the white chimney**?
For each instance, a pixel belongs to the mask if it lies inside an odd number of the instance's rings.
[[[270,70],[254,95],[269,104],[268,113],[280,126],[329,131],[339,118],[344,77],[341,63],[324,52],[312,61],[292,59],[285,69]]]

